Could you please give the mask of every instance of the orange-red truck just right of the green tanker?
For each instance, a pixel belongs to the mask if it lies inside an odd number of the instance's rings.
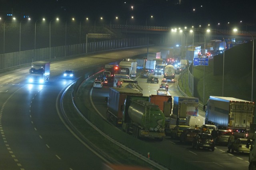
[[[149,101],[155,104],[164,113],[165,128],[168,128],[170,115],[172,114],[172,96],[150,95]]]

